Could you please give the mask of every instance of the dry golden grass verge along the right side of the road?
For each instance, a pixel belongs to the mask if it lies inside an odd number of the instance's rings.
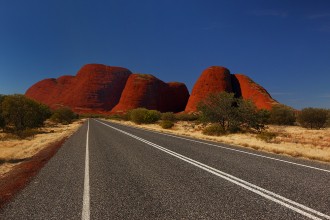
[[[309,130],[297,126],[268,126],[266,131],[275,133],[276,137],[266,142],[258,139],[257,134],[250,133],[207,136],[202,134],[203,126],[193,122],[180,121],[177,122],[172,129],[162,129],[158,124],[136,125],[130,121],[109,121],[158,132],[232,144],[274,154],[317,160],[320,162],[330,162],[329,128],[323,130]]]

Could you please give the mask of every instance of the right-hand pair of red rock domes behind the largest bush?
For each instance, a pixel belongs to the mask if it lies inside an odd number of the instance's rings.
[[[233,92],[236,97],[249,99],[259,109],[271,109],[277,103],[269,93],[249,77],[230,74],[225,67],[211,66],[203,71],[192,90],[186,112],[197,111],[197,105],[211,93]]]

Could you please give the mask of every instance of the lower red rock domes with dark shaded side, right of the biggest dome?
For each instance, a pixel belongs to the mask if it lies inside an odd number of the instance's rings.
[[[167,84],[150,74],[132,74],[111,112],[122,113],[140,107],[179,112],[184,110],[188,98],[189,92],[183,83]]]

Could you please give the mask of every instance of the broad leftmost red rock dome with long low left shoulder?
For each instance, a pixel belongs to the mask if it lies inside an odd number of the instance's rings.
[[[104,113],[118,103],[130,75],[122,67],[87,64],[76,76],[42,80],[25,95],[51,108],[67,106],[77,113]]]

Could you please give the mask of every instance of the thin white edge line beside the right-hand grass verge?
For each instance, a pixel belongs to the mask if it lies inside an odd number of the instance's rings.
[[[195,142],[195,143],[199,143],[199,144],[205,144],[205,145],[209,145],[209,146],[213,146],[213,147],[222,148],[222,149],[225,149],[225,150],[231,150],[231,151],[235,151],[235,152],[239,152],[239,153],[243,153],[243,154],[249,154],[249,155],[256,156],[256,157],[262,157],[262,158],[266,158],[266,159],[270,159],[270,160],[276,160],[276,161],[280,161],[280,162],[283,162],[283,163],[288,163],[288,164],[292,164],[292,165],[296,165],[296,166],[301,166],[301,167],[305,167],[305,168],[310,168],[310,169],[330,173],[330,170],[326,170],[326,169],[322,169],[322,168],[318,168],[318,167],[313,167],[313,166],[308,166],[308,165],[305,165],[305,164],[295,163],[295,162],[291,162],[291,161],[287,161],[287,160],[282,160],[282,159],[278,159],[278,158],[274,158],[274,157],[268,157],[268,156],[264,156],[264,155],[260,155],[260,154],[250,153],[250,152],[247,152],[247,151],[237,150],[237,149],[233,149],[233,148],[229,148],[229,147],[224,147],[224,146],[217,145],[217,144],[211,144],[211,143],[207,143],[207,142],[203,142],[203,141],[197,141],[197,140],[193,140],[193,139],[189,139],[189,138],[179,137],[179,136],[171,135],[171,134],[165,134],[165,133],[157,132],[157,131],[151,131],[151,130],[143,129],[143,128],[136,128],[136,129],[140,129],[140,130],[144,130],[144,131],[148,131],[148,132],[152,132],[152,133],[156,133],[156,134],[161,134],[161,135],[165,135],[165,136],[169,136],[169,137],[174,137],[174,138],[177,138],[177,139],[191,141],[191,142]]]

